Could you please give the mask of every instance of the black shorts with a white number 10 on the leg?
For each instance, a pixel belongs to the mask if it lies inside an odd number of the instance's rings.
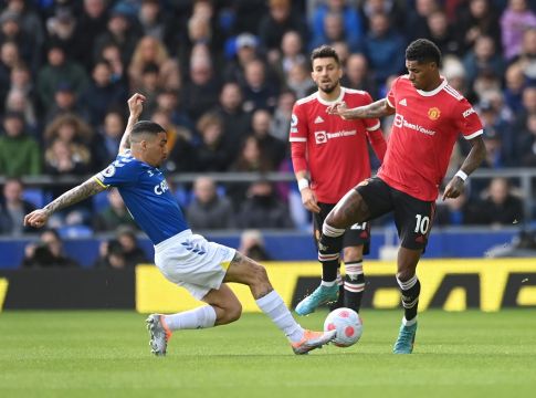
[[[378,177],[369,178],[355,188],[370,212],[370,220],[393,212],[402,248],[424,249],[432,229],[435,201],[424,201],[388,186]]]

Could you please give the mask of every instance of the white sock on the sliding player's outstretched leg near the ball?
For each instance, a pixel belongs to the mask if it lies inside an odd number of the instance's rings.
[[[297,343],[303,338],[303,327],[292,317],[291,312],[276,291],[272,291],[264,297],[256,300],[256,305],[270,316],[272,322],[283,331],[292,343]]]

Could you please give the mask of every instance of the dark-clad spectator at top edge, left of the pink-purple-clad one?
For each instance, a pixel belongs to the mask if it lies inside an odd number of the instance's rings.
[[[501,27],[493,0],[469,0],[465,3],[454,24],[461,52],[467,52],[483,35],[492,39],[497,52],[502,51]]]

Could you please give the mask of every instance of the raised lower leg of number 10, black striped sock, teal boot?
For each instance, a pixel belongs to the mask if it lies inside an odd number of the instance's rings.
[[[316,290],[302,300],[296,306],[296,314],[308,315],[318,306],[335,302],[338,296],[337,268],[339,265],[340,249],[345,229],[322,226],[318,240],[318,260],[322,263],[322,283]]]

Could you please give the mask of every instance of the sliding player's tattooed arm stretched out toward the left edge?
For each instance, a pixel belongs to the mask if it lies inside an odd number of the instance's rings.
[[[98,184],[95,177],[92,177],[80,186],[66,191],[61,197],[46,205],[44,208],[34,210],[27,214],[24,217],[24,226],[41,228],[56,210],[77,203],[105,189],[105,186]]]

